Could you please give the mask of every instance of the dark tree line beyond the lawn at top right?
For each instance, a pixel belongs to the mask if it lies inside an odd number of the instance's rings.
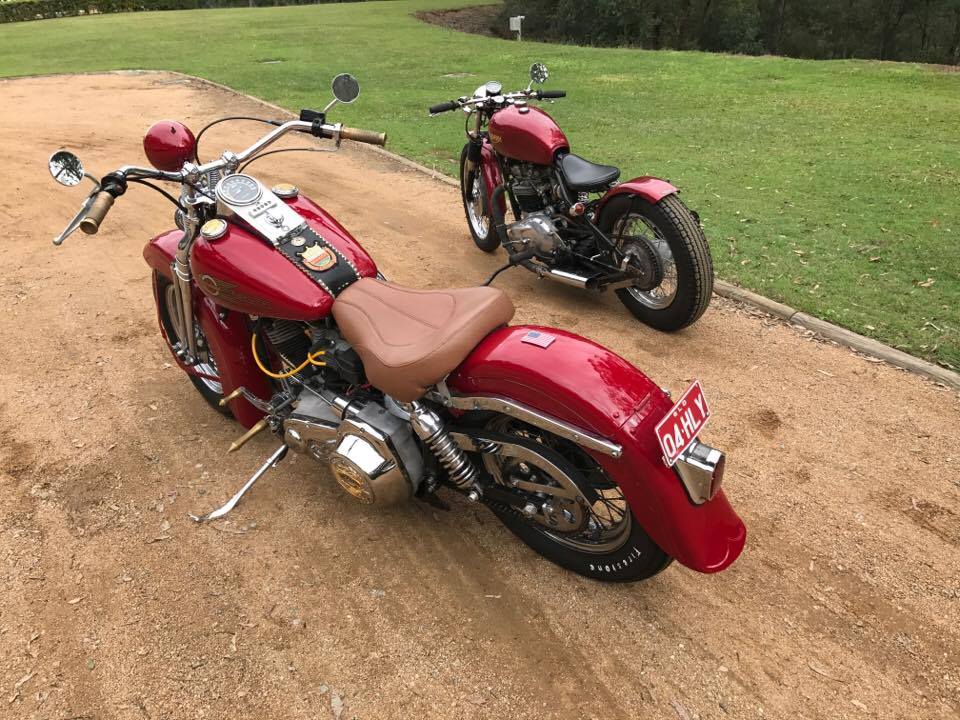
[[[578,45],[960,63],[960,0],[506,0],[529,38]]]

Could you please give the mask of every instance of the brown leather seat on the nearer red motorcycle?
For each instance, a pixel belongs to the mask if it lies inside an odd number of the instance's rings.
[[[411,402],[509,322],[513,303],[490,287],[414,290],[361,278],[337,296],[333,316],[370,382]]]

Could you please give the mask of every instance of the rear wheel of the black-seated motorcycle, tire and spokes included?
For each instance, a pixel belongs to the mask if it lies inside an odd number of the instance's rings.
[[[603,230],[653,283],[617,290],[641,322],[658,330],[695,323],[710,304],[713,260],[700,223],[676,195],[657,203],[619,195],[603,209]]]

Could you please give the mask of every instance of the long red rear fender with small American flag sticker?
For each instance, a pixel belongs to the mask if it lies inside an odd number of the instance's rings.
[[[530,331],[554,338],[523,342]],[[669,555],[699,572],[737,559],[746,528],[721,490],[694,505],[661,460],[653,428],[670,398],[620,356],[578,335],[514,326],[488,335],[447,378],[459,395],[510,398],[623,447],[619,458],[584,448],[620,486],[634,516]]]

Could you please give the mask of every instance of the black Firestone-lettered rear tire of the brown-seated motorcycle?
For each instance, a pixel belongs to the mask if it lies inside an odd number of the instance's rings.
[[[620,494],[616,484],[596,460],[573,442],[502,416],[485,418],[484,414],[477,414],[464,420],[474,426],[482,423],[487,428],[500,427],[501,429],[506,422],[507,435],[500,432],[490,433],[486,429],[478,429],[475,432],[480,437],[485,436],[494,441],[509,437],[510,442],[534,450],[567,475],[587,496],[596,498],[596,491]],[[497,461],[492,460],[492,457],[487,456],[486,460],[478,459],[481,463],[496,463]],[[490,469],[489,465],[485,467]],[[571,542],[569,539],[571,536],[551,532],[545,525],[523,516],[511,507],[494,502],[490,502],[489,506],[507,529],[527,546],[567,570],[605,582],[645,580],[670,565],[673,558],[665,553],[637,522],[633,511],[626,504],[626,499],[621,497],[619,502],[624,503],[623,507],[627,510],[629,517],[619,521],[620,529],[615,529],[615,542],[607,543],[608,547],[590,545],[583,541],[577,542],[576,538]],[[578,549],[574,545],[590,549]]]

